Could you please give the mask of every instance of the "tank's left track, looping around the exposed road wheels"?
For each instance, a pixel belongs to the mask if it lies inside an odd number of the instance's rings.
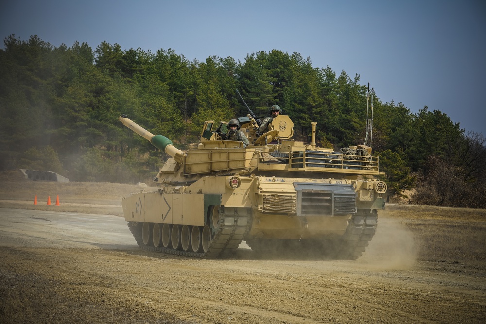
[[[231,219],[234,221],[231,222]],[[248,233],[251,224],[251,209],[225,208],[221,206],[219,208],[218,223],[211,226],[213,229],[212,240],[207,252],[174,250],[173,248],[145,245],[142,241],[142,224],[142,222],[128,222],[127,225],[137,244],[143,250],[197,258],[229,258],[234,254],[246,233]],[[203,228],[201,227],[200,229],[202,232]]]

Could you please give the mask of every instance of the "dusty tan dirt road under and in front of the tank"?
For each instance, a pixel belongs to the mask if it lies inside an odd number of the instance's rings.
[[[391,218],[357,261],[140,250],[116,216],[0,208],[4,323],[484,323],[486,273],[416,260]]]

